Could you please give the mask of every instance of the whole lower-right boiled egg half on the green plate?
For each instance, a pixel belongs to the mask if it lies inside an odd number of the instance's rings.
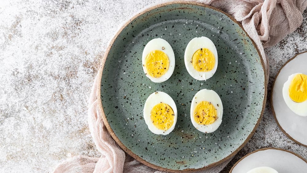
[[[222,123],[223,104],[213,90],[202,89],[192,99],[190,109],[193,126],[204,133],[216,131]]]

